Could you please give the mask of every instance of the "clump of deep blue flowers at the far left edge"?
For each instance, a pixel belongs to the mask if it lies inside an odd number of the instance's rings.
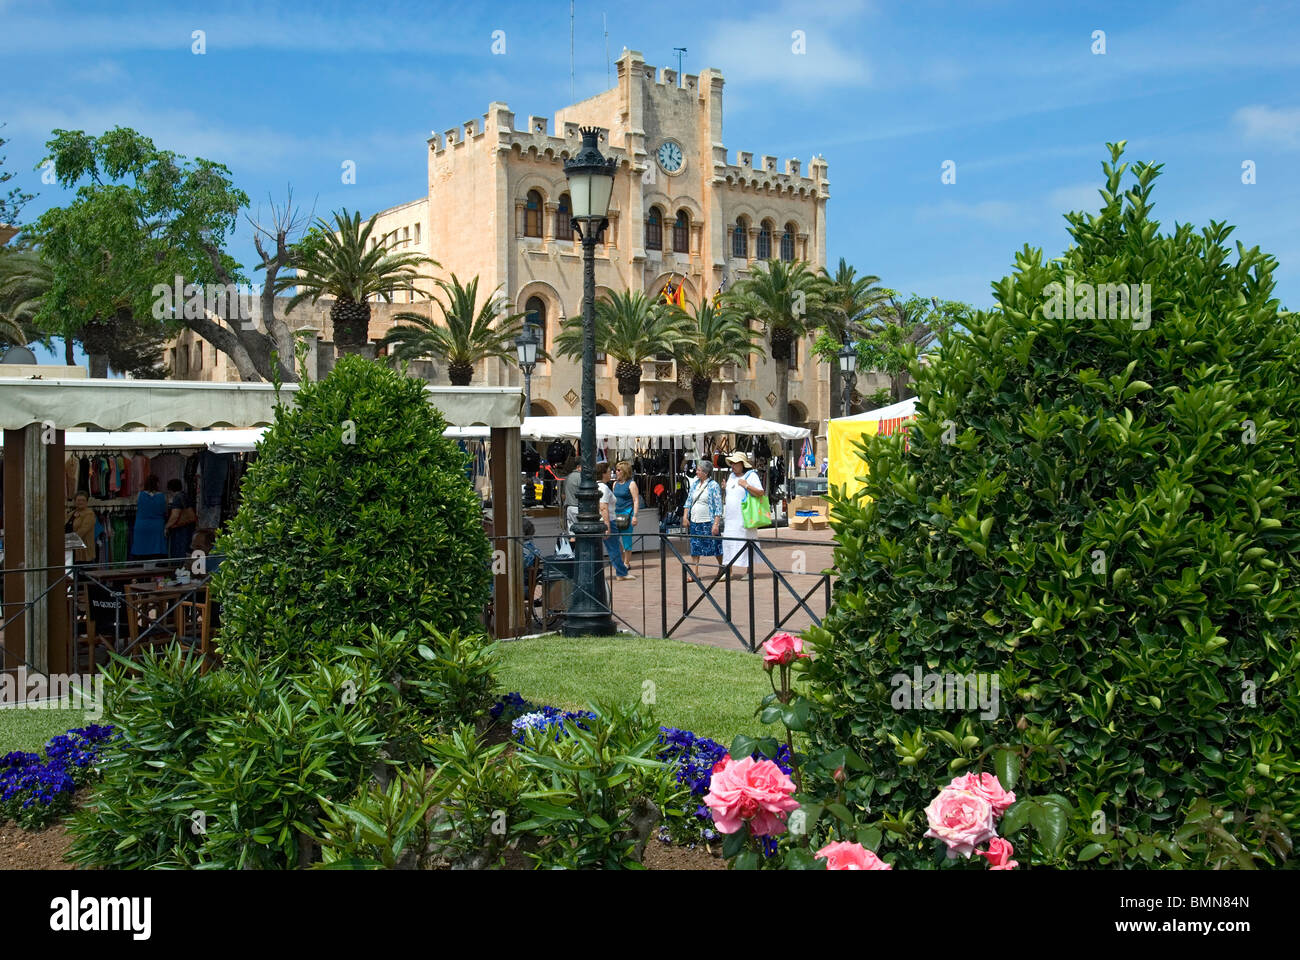
[[[118,738],[112,726],[90,725],[52,738],[39,753],[14,751],[0,757],[0,820],[40,830],[72,809],[73,793],[94,779],[107,747]]]

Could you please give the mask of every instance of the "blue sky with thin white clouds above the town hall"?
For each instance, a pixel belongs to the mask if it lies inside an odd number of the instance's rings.
[[[654,65],[723,70],[724,140],[829,163],[829,261],[887,286],[989,306],[1022,245],[1066,243],[1096,209],[1106,140],[1165,164],[1156,216],[1238,226],[1300,302],[1300,9],[1296,3],[719,3],[578,0],[575,99],[627,47]],[[191,52],[195,30],[207,52]],[[506,53],[491,52],[493,31]],[[806,53],[792,52],[803,31]],[[1105,53],[1093,33],[1105,31]],[[159,4],[0,0],[6,169],[53,127],[131,126],[226,164],[265,207],[286,185],[318,215],[420,196],[430,130],[504,100],[517,118],[569,96],[569,4]],[[341,164],[356,163],[356,183]],[[942,183],[945,161],[956,183]],[[1256,183],[1242,182],[1253,161]],[[247,224],[231,252],[252,261]],[[254,277],[256,280],[256,277]]]

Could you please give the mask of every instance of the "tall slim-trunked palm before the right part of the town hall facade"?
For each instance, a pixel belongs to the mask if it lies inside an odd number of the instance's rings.
[[[768,260],[724,298],[732,310],[763,324],[776,360],[777,416],[790,420],[790,346],[822,315],[826,281],[803,260]]]

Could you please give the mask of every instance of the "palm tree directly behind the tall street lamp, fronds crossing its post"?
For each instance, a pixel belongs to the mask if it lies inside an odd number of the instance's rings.
[[[623,412],[630,415],[641,392],[641,364],[659,354],[676,353],[686,336],[686,317],[666,303],[656,303],[640,290],[610,294],[595,304],[595,350],[608,354],[618,366],[614,376],[623,394]],[[582,356],[582,317],[571,316],[555,337],[555,350]]]

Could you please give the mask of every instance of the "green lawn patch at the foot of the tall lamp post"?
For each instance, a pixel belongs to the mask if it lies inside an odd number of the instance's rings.
[[[502,692],[534,704],[580,709],[592,700],[640,700],[654,687],[663,726],[692,730],[728,744],[736,734],[774,734],[754,715],[772,688],[753,653],[641,636],[515,640],[500,644]]]

